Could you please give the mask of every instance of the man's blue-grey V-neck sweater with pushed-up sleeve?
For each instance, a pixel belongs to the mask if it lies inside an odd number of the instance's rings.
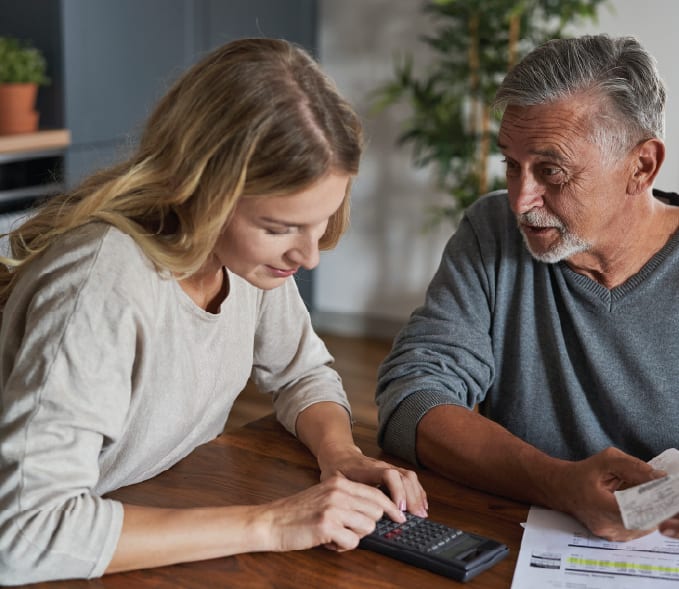
[[[534,260],[505,193],[480,199],[379,371],[379,441],[416,462],[422,416],[480,404],[547,454],[679,443],[679,234],[612,290]]]

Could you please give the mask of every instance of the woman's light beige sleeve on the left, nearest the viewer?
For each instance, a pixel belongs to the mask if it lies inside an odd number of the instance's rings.
[[[93,489],[102,446],[125,421],[135,334],[98,253],[55,255],[5,309],[0,584],[97,577],[117,545],[122,505]]]

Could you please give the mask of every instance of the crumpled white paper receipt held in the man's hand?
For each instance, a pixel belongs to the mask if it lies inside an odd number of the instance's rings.
[[[679,513],[679,450],[669,448],[649,464],[668,476],[615,492],[628,530],[649,530]]]

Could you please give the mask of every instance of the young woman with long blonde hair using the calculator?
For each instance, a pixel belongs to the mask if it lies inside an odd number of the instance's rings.
[[[345,229],[360,151],[355,114],[306,53],[235,41],[170,89],[128,161],[10,234],[0,584],[344,550],[383,513],[426,515],[414,473],[353,444],[346,396],[293,277]],[[250,376],[323,482],[256,506],[104,497],[219,435]]]

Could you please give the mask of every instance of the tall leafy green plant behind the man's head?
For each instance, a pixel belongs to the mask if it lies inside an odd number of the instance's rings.
[[[607,0],[430,0],[432,32],[422,40],[433,52],[426,71],[406,56],[391,81],[373,94],[379,111],[405,102],[399,144],[413,148],[417,167],[432,166],[450,204],[432,211],[432,225],[456,222],[479,196],[504,185],[493,174],[498,121],[490,104],[505,74],[521,57],[564,29],[596,20]]]

